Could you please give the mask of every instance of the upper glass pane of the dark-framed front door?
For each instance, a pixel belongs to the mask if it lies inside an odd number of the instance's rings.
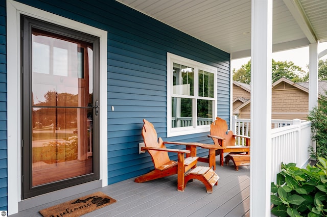
[[[92,44],[36,29],[32,32],[32,42],[32,104],[92,104]],[[79,94],[85,97],[78,97]]]

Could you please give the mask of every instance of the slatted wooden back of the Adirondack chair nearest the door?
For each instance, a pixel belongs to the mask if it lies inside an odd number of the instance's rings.
[[[161,138],[158,138],[157,132],[154,129],[152,123],[143,119],[144,125],[142,129],[142,137],[146,147],[153,147],[153,148],[166,148],[165,144],[163,143]],[[159,168],[161,165],[166,164],[170,161],[167,151],[154,151],[148,150],[149,154],[151,155],[154,168]]]

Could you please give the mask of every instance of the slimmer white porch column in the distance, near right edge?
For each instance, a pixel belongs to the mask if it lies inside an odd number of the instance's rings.
[[[318,43],[309,44],[309,111],[318,105]]]

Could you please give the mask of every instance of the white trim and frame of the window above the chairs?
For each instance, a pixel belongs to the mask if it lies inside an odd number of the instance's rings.
[[[209,65],[205,65],[203,63],[199,63],[194,60],[190,60],[184,57],[180,57],[177,55],[174,55],[173,53],[167,52],[167,137],[175,137],[178,135],[187,135],[187,134],[193,134],[193,133],[200,133],[200,132],[208,132],[210,130],[210,125],[204,125],[204,126],[196,126],[194,123],[191,127],[176,127],[172,128],[172,95],[173,95],[173,86],[172,86],[172,80],[173,80],[173,74],[171,73],[171,70],[173,68],[173,62],[184,64],[185,66],[194,67],[195,76],[194,76],[194,85],[195,87],[198,87],[198,69],[206,70],[209,72],[213,72],[215,74],[214,80],[215,83],[215,93],[214,93],[214,106],[213,106],[213,120],[215,119],[215,116],[217,114],[217,68]],[[203,97],[197,97],[198,96],[198,88],[194,88],[194,95],[196,98],[203,98]],[[183,98],[188,98],[188,96],[182,95]],[[194,98],[192,96],[192,98]],[[193,106],[193,114],[196,114],[197,108],[196,106]]]

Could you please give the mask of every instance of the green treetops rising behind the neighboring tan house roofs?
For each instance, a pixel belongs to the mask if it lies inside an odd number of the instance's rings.
[[[327,68],[326,68],[327,69]],[[285,77],[292,82],[304,82],[306,81],[306,72],[301,67],[296,66],[292,61],[274,61],[272,59],[272,83],[276,82],[282,77]],[[327,73],[326,73],[327,75]],[[326,76],[327,79],[327,76]],[[233,70],[233,80],[250,84],[251,82],[251,61],[241,66],[237,71]]]

